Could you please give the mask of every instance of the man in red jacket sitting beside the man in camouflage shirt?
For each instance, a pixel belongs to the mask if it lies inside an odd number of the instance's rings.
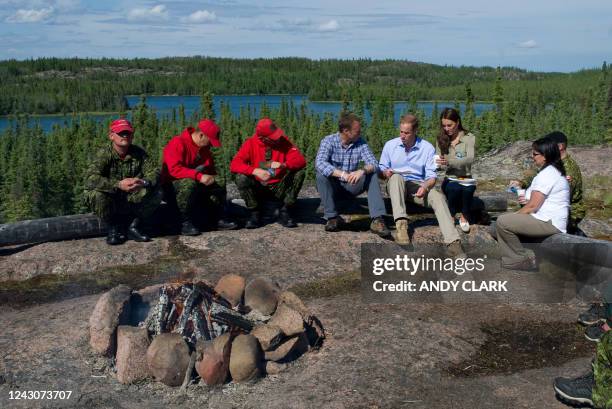
[[[205,119],[197,128],[186,128],[164,148],[161,185],[164,199],[180,214],[181,234],[197,236],[203,213],[212,210],[217,228],[232,230],[238,226],[226,221],[226,191],[215,182],[215,164],[210,147],[219,147],[219,126]],[[210,219],[210,217],[208,217]]]

